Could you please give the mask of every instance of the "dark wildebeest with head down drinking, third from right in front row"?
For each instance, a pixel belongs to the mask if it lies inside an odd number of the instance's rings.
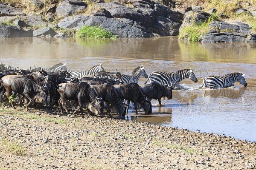
[[[125,106],[113,85],[104,83],[102,85],[91,85],[91,87],[95,90],[98,96],[102,97],[102,99],[107,102],[108,112],[110,115],[112,110],[119,116],[125,116]]]

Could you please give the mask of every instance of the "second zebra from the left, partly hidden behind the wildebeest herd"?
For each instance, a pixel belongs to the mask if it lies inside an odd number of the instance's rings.
[[[67,70],[67,73],[70,74],[71,79],[81,79],[82,77],[96,74],[99,71],[105,71],[104,68],[102,67],[102,63],[100,65],[95,65],[86,71]]]

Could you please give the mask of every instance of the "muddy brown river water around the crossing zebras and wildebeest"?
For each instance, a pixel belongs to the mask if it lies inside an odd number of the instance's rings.
[[[198,82],[180,82],[173,99],[152,100],[152,114],[129,110],[127,120],[150,122],[256,141],[256,43],[202,44],[179,42],[177,37],[86,40],[76,38],[2,39],[0,61],[19,68],[50,67],[66,62],[68,69],[83,71],[99,63],[106,71],[131,74],[139,65],[152,71],[193,68]],[[245,73],[248,86],[198,89],[208,75]],[[145,82],[140,78],[140,83]]]

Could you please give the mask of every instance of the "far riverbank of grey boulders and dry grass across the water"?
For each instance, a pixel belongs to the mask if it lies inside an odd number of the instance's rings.
[[[189,41],[256,42],[256,3],[250,0],[3,1],[0,37],[72,37],[86,26],[123,38],[179,35]],[[82,32],[92,38],[100,34]]]

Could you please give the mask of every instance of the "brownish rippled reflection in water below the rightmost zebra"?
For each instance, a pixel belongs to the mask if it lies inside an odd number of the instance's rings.
[[[227,97],[230,99],[240,99],[243,96],[246,88],[220,88],[220,89],[205,89],[203,91],[204,98],[220,98]]]

